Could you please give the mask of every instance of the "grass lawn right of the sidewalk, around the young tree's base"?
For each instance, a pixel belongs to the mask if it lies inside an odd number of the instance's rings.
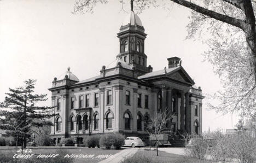
[[[176,154],[166,153],[162,151],[159,151],[158,153],[159,153],[159,156],[156,156],[155,150],[140,149],[131,158],[126,158],[123,161],[123,163],[207,162],[207,161],[197,160],[194,158],[186,159],[183,155],[176,155]]]

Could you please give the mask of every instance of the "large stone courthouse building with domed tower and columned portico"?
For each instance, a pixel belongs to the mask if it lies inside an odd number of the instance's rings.
[[[113,132],[145,140],[148,120],[165,109],[173,113],[166,124],[173,132],[202,132],[202,90],[193,86],[178,57],[168,58],[159,71],[147,66],[146,36],[131,11],[120,27],[120,53],[112,67],[102,66],[96,77],[81,81],[70,68],[54,78],[49,90],[53,113],[59,114],[52,119],[55,141],[73,137],[81,143],[86,135]]]

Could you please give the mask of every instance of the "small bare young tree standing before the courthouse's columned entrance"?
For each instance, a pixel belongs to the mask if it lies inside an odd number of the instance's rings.
[[[167,112],[155,112],[153,119],[150,119],[147,124],[147,131],[149,135],[154,135],[156,140],[156,156],[158,156],[159,136],[163,133],[170,133],[171,130],[166,127],[166,124],[172,120],[172,115]]]

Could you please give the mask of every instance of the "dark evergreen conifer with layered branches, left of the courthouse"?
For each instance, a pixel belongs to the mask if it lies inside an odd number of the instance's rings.
[[[51,107],[35,106],[37,102],[46,101],[46,94],[33,94],[36,80],[28,79],[25,85],[16,89],[10,89],[5,93],[5,101],[0,103],[1,108],[11,108],[2,110],[0,116],[5,117],[0,129],[8,130],[15,137],[21,137],[22,148],[26,148],[26,138],[31,135],[32,127],[42,127],[52,125],[45,118],[50,118]]]

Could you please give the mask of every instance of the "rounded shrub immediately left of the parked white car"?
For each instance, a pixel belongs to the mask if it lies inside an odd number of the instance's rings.
[[[120,133],[110,133],[103,135],[100,139],[100,145],[110,149],[114,145],[115,149],[120,149],[124,145],[125,137]]]

